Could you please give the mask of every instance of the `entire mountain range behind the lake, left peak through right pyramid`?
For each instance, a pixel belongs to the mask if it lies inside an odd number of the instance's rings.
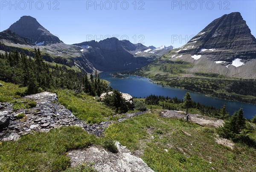
[[[163,68],[163,64],[186,62],[184,70],[189,76],[205,72],[237,78],[256,77],[256,39],[239,12],[212,21],[186,45],[176,49],[164,45],[146,47],[116,38],[67,45],[30,16],[21,17],[0,32],[2,52],[17,50],[31,56],[35,47],[40,48],[46,61],[87,73],[145,66],[143,71],[147,73],[159,70],[158,73],[169,74],[172,69]]]

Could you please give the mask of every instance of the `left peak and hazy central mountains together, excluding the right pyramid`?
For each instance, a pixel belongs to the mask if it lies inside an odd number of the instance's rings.
[[[150,48],[116,38],[67,45],[30,16],[20,17],[9,29],[0,32],[2,51],[17,50],[32,55],[35,47],[40,48],[43,58],[48,62],[60,63],[88,73],[94,70],[141,68],[172,48],[170,46],[146,52]]]

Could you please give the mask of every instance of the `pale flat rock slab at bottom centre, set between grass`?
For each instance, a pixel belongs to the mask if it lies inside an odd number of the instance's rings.
[[[93,163],[93,168],[99,172],[154,172],[141,158],[132,155],[118,141],[116,146],[117,153],[99,147],[89,147],[84,150],[73,150],[67,156],[71,158],[71,166]]]

